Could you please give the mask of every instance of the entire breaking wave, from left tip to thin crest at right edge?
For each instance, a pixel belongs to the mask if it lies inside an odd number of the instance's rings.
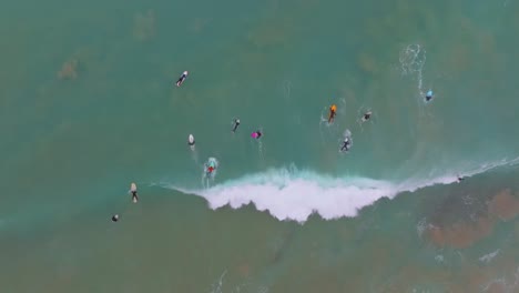
[[[257,210],[268,211],[278,220],[305,222],[313,213],[325,220],[355,216],[360,209],[381,198],[393,199],[401,192],[413,192],[435,184],[450,184],[457,181],[457,173],[471,176],[517,161],[501,160],[481,164],[467,172],[456,172],[431,180],[411,179],[399,183],[364,178],[332,178],[313,171],[275,169],[230,180],[210,189],[170,188],[203,196],[214,210],[225,205],[238,209],[254,203]]]

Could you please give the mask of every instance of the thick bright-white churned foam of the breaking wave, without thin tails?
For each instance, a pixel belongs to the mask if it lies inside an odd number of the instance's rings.
[[[275,176],[278,173],[282,176]],[[273,171],[267,174],[268,181],[258,182],[263,175],[202,191],[212,209],[230,204],[237,209],[254,203],[260,211],[268,211],[279,220],[305,221],[317,212],[324,219],[354,216],[357,209],[366,206],[383,196],[395,194],[390,185],[384,182],[365,182],[370,184],[348,184],[343,180],[318,178],[307,180],[301,175],[287,175]]]

